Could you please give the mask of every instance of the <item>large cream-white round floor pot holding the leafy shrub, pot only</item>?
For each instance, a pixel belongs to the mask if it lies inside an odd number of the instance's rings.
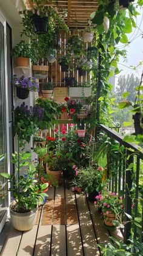
[[[12,202],[10,204],[10,218],[11,218],[13,227],[15,227],[15,229],[20,231],[26,231],[26,230],[32,229],[32,227],[35,225],[35,222],[36,222],[38,207],[36,207],[35,210],[30,212],[18,213],[18,212],[13,212],[13,210],[11,210],[11,207],[14,203],[15,202]]]

